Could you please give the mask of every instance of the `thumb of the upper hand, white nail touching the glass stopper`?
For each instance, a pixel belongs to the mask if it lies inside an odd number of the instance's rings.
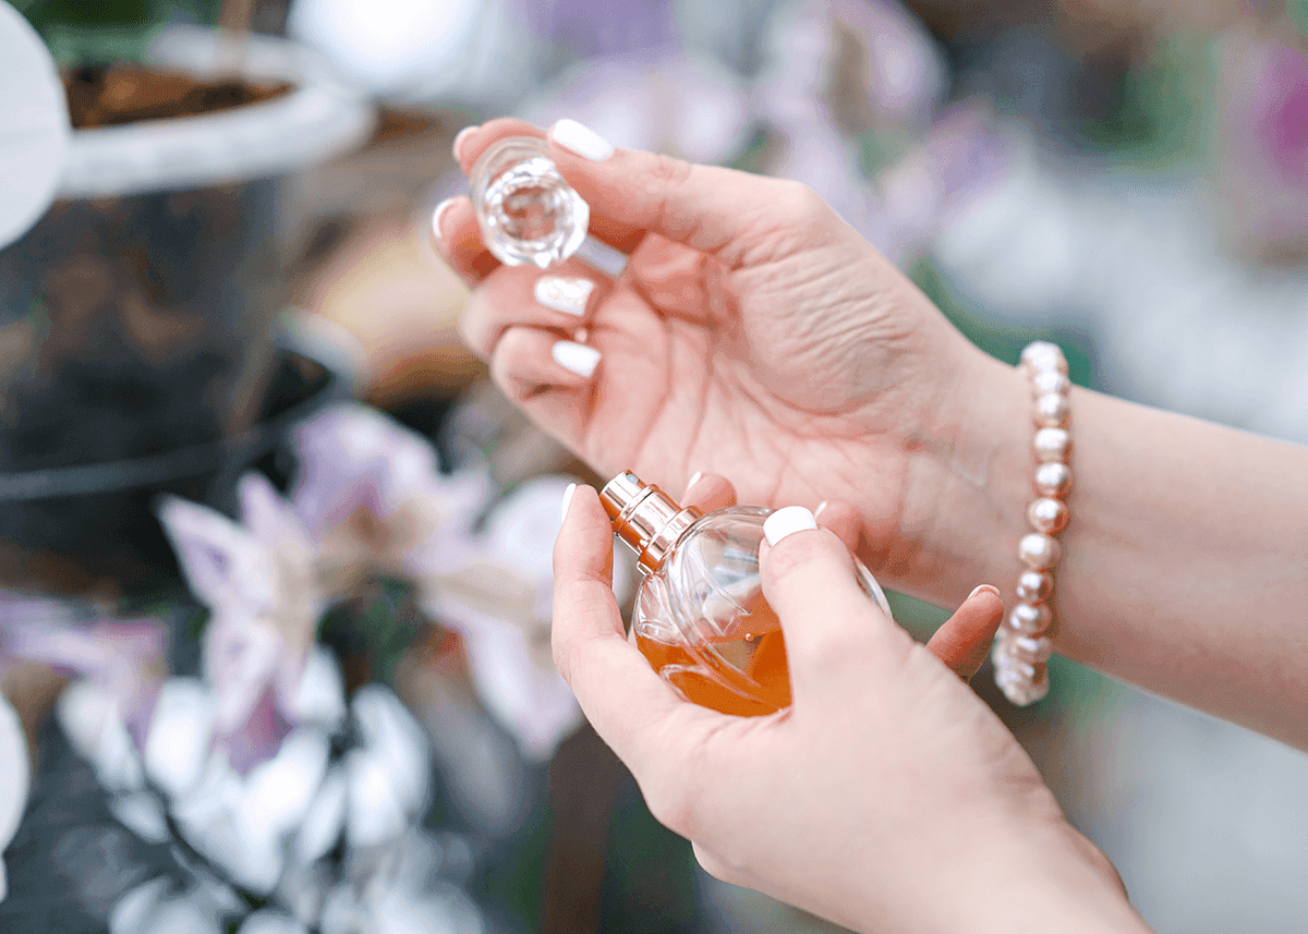
[[[810,246],[832,235],[835,212],[798,182],[616,149],[577,120],[560,120],[547,139],[568,183],[611,222],[606,239],[627,252],[653,232],[740,267],[797,242],[795,224]],[[782,229],[791,235],[777,237]]]

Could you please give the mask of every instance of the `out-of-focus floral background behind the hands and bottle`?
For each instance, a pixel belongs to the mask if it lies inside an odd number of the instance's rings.
[[[455,332],[464,126],[799,179],[994,356],[1308,442],[1303,0],[10,3],[3,930],[832,930],[701,873],[560,691],[598,477]],[[1308,930],[1308,757],[1052,668],[976,689],[1146,920]]]

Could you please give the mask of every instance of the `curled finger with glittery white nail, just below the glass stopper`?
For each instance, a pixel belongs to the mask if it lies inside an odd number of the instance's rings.
[[[459,332],[473,353],[489,360],[510,327],[553,328],[560,334],[586,327],[591,309],[606,293],[600,277],[579,262],[569,260],[547,273],[535,267],[505,266],[468,296]]]

